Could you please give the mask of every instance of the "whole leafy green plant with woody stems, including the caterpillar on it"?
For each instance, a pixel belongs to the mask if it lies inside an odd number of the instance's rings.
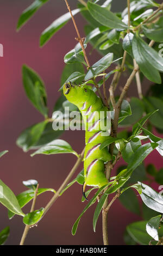
[[[17,29],[48,1],[50,0],[35,0],[23,11]],[[15,196],[10,188],[0,181],[0,202],[8,208],[9,219],[14,215],[23,217],[26,224],[20,243],[23,245],[29,228],[41,221],[55,200],[65,193],[68,187],[78,182],[79,186],[83,186],[82,202],[86,199],[88,202],[85,202],[84,210],[74,221],[72,234],[76,234],[79,221],[86,210],[96,204],[92,220],[93,230],[96,230],[96,223],[102,212],[103,241],[104,245],[108,245],[108,211],[118,199],[129,211],[140,215],[140,205],[136,197],[138,192],[143,201],[143,220],[127,225],[124,241],[127,245],[162,245],[163,168],[157,170],[153,164],[145,167],[143,161],[153,150],[163,156],[163,139],[153,134],[153,131],[163,131],[163,3],[152,0],[127,0],[127,7],[122,13],[112,13],[112,0],[78,0],[77,9],[74,10],[71,10],[71,4],[69,5],[67,0],[62,1],[65,1],[65,12],[67,8],[68,11],[42,32],[40,46],[48,43],[52,36],[71,20],[69,25],[76,29],[78,43],[72,46],[73,50],[64,57],[61,95],[54,104],[54,113],[62,113],[64,124],[62,129],[53,129],[56,115],[48,115],[43,81],[34,70],[24,65],[24,90],[37,111],[43,115],[43,119],[41,123],[24,130],[17,139],[17,145],[25,152],[37,149],[32,156],[72,153],[77,156],[77,161],[58,191],[53,188],[40,188],[36,180],[28,180],[23,181],[28,190]],[[87,21],[84,27],[85,38],[80,35],[74,19],[77,13]],[[91,44],[93,54],[101,54],[101,58],[93,65],[90,65],[91,55],[87,52],[87,44]],[[120,81],[123,75],[128,78],[125,78],[126,82],[122,84]],[[109,77],[111,82],[108,82]],[[148,90],[143,95],[145,77],[148,80]],[[138,97],[129,99],[127,92],[131,82],[132,86],[137,87]],[[121,87],[121,90],[118,90],[120,93],[115,96],[118,87]],[[84,119],[86,147],[80,150],[80,154],[66,141],[58,139],[64,130],[67,130],[65,107],[79,114],[79,127],[81,113]],[[99,112],[104,113],[103,117],[98,115]],[[68,125],[71,120],[72,118],[69,119]],[[110,120],[109,126],[105,125],[107,120]],[[60,117],[57,121],[60,121]],[[97,124],[100,127],[96,129]],[[103,132],[108,133],[103,136]],[[3,151],[0,156],[6,152]],[[126,166],[117,168],[116,163],[121,158],[126,161]],[[84,170],[71,180],[83,159]],[[112,169],[116,169],[116,176],[112,175]],[[151,180],[158,183],[159,192],[149,186]],[[54,196],[45,208],[35,210],[37,196],[46,191],[53,192]],[[30,201],[31,211],[25,214],[22,208]],[[8,235],[9,227],[0,233],[1,244]]]

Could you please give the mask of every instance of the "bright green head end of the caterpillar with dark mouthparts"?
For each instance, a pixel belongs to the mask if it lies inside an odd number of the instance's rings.
[[[68,101],[77,105],[77,103],[82,103],[89,96],[90,89],[87,86],[80,86],[72,84],[71,82],[65,83],[63,87],[63,92]]]

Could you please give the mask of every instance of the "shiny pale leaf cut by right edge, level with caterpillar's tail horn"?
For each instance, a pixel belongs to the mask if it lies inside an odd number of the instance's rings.
[[[151,209],[163,213],[163,198],[151,187],[138,182],[141,185],[142,193],[140,194],[143,202]]]

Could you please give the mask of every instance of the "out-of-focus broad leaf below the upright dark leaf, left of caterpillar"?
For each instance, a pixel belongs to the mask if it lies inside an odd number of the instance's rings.
[[[16,144],[18,147],[22,148],[24,152],[31,149],[41,139],[46,125],[47,121],[43,121],[24,130],[17,138]]]

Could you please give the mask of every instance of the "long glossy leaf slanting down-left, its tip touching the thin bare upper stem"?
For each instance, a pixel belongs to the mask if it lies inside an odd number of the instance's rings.
[[[79,13],[80,9],[72,10],[72,15],[76,15]],[[66,25],[66,23],[71,19],[71,14],[66,13],[62,16],[60,16],[57,20],[53,21],[53,23],[45,29],[45,31],[42,32],[40,36],[40,46],[46,44],[46,42],[49,41],[49,39],[52,38],[52,36],[59,31],[62,27]]]

